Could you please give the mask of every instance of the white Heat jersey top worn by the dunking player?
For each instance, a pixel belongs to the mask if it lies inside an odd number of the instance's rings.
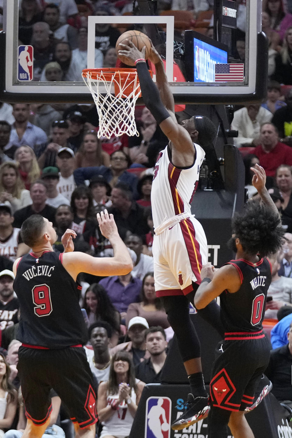
[[[154,228],[165,218],[169,219],[183,212],[190,213],[190,203],[205,156],[201,146],[195,143],[193,145],[196,152],[195,162],[189,167],[178,168],[172,164],[169,146],[158,155],[151,189]]]

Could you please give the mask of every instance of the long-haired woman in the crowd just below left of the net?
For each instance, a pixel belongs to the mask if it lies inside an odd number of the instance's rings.
[[[109,154],[102,150],[101,141],[93,130],[84,133],[75,159],[76,167],[109,166]]]

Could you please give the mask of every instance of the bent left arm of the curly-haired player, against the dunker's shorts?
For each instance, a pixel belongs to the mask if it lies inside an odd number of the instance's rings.
[[[225,265],[218,271],[209,263],[201,269],[202,283],[197,289],[193,303],[197,309],[203,309],[212,300],[217,298],[225,289],[235,293],[241,286],[237,269],[232,265]]]

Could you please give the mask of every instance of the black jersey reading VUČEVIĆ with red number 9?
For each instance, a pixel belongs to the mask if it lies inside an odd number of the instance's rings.
[[[86,342],[86,326],[74,279],[62,265],[63,254],[32,253],[18,263],[14,290],[20,303],[18,340],[49,349]]]

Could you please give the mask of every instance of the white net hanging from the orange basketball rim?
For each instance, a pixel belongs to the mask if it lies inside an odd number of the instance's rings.
[[[110,81],[105,78],[102,71],[98,74],[98,78],[92,78],[91,72],[87,72],[86,78],[82,76],[92,94],[99,115],[98,138],[111,138],[113,135],[120,137],[123,134],[139,135],[134,116],[135,104],[140,94],[137,71],[129,72],[126,81],[122,84],[120,73],[120,71],[113,72]],[[116,95],[111,94],[113,85]],[[100,87],[105,88],[103,95]],[[125,94],[125,89],[128,87],[132,89],[129,95]]]

